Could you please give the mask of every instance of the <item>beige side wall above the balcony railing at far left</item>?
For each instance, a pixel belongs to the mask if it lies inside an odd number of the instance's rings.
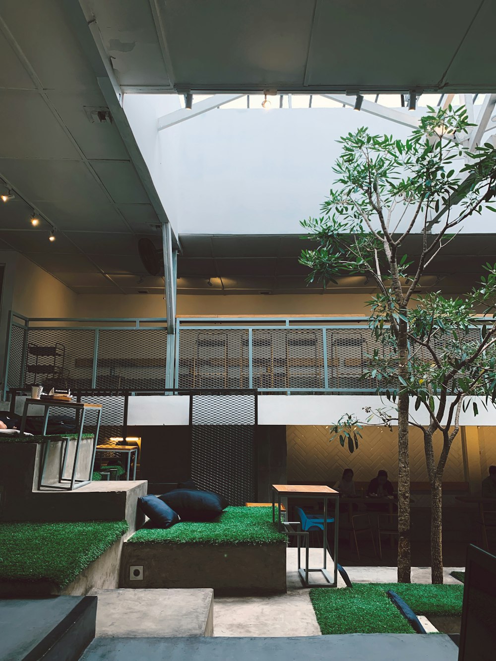
[[[72,317],[77,295],[21,254],[17,257],[12,309],[25,317]]]

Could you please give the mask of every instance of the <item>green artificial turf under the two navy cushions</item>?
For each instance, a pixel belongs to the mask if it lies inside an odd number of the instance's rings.
[[[184,521],[171,528],[144,527],[128,539],[131,543],[161,544],[276,544],[288,541],[272,524],[271,507],[228,507],[209,522]]]

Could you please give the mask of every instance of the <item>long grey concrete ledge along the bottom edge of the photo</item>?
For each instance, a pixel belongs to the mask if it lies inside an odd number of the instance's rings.
[[[96,639],[81,661],[457,661],[445,635],[351,634],[300,638]]]

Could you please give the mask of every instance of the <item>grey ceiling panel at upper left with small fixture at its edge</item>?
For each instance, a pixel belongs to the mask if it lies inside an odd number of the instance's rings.
[[[87,159],[129,158],[116,124],[100,122],[91,114],[91,108],[106,108],[100,91],[48,91],[47,95]]]

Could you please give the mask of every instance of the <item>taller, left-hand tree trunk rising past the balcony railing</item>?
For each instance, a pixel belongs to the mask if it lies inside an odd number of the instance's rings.
[[[408,378],[407,324],[400,320],[397,337],[398,373]],[[402,387],[401,385],[399,386]],[[410,551],[410,461],[408,452],[409,397],[405,393],[398,398],[398,582],[411,582]]]

